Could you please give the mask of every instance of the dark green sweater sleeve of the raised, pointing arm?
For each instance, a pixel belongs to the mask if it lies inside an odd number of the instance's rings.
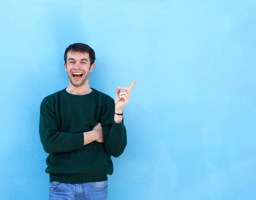
[[[127,145],[127,135],[124,121],[114,121],[114,105],[108,107],[107,114],[101,118],[102,132],[105,148],[108,154],[119,157]]]

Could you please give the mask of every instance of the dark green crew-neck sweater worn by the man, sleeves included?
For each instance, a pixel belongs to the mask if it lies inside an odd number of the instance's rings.
[[[44,98],[39,133],[47,157],[50,182],[88,183],[108,180],[111,156],[119,157],[127,144],[124,123],[114,121],[113,98],[96,89],[74,95],[63,89]],[[84,146],[83,132],[102,124],[104,143]]]

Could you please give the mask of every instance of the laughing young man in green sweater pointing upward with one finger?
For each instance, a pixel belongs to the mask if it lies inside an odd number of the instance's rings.
[[[40,139],[49,153],[49,200],[107,200],[111,156],[119,157],[127,144],[122,110],[136,80],[118,87],[113,100],[89,86],[94,60],[90,46],[68,46],[64,67],[69,84],[40,106]]]

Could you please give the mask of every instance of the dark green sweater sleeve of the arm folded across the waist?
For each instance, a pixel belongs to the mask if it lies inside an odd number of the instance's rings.
[[[60,132],[54,103],[43,100],[40,106],[39,134],[47,153],[68,152],[84,148],[83,133]]]

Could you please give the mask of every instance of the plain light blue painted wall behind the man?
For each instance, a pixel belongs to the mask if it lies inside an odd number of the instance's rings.
[[[255,0],[9,0],[0,19],[1,200],[47,199],[39,105],[75,42],[96,51],[91,87],[137,79],[110,200],[256,198]]]

